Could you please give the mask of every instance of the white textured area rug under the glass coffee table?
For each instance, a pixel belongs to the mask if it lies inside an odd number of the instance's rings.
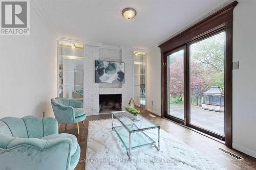
[[[114,126],[120,125],[114,119]],[[225,169],[164,130],[161,130],[160,151],[152,145],[137,148],[132,150],[129,161],[122,142],[112,131],[111,119],[90,121],[88,128],[86,170]],[[157,138],[157,130],[144,132]]]

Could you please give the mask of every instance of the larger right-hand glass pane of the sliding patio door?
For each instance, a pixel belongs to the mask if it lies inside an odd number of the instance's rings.
[[[224,137],[225,32],[190,43],[189,58],[189,124]]]

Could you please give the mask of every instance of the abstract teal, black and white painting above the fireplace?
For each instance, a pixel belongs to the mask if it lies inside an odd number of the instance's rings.
[[[95,83],[124,83],[124,63],[96,60]]]

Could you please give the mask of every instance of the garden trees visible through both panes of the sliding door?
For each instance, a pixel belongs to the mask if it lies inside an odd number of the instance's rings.
[[[190,45],[191,98],[202,101],[202,93],[211,86],[220,86],[224,92],[224,53],[225,32]],[[183,51],[170,55],[170,103],[183,102],[183,69]]]

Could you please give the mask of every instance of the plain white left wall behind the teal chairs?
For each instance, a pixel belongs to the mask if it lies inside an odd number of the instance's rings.
[[[53,116],[57,95],[57,41],[30,8],[29,36],[0,36],[0,118]]]

